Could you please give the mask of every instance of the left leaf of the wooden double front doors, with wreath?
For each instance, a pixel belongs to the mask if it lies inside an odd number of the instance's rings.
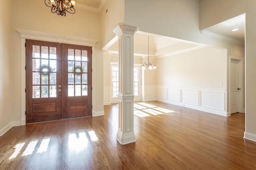
[[[61,44],[26,40],[26,123],[62,118]]]

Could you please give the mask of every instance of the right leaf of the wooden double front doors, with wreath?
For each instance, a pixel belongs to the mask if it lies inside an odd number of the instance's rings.
[[[63,118],[92,115],[92,47],[62,45]]]

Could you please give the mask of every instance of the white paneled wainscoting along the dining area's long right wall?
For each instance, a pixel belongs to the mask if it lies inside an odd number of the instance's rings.
[[[218,115],[230,116],[226,111],[226,89],[156,86],[156,100]]]

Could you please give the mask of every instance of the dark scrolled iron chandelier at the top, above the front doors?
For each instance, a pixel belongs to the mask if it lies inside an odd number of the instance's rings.
[[[52,8],[52,13],[56,13],[61,16],[66,16],[66,12],[74,14],[76,10],[74,6],[76,0],[44,0],[46,6]]]

